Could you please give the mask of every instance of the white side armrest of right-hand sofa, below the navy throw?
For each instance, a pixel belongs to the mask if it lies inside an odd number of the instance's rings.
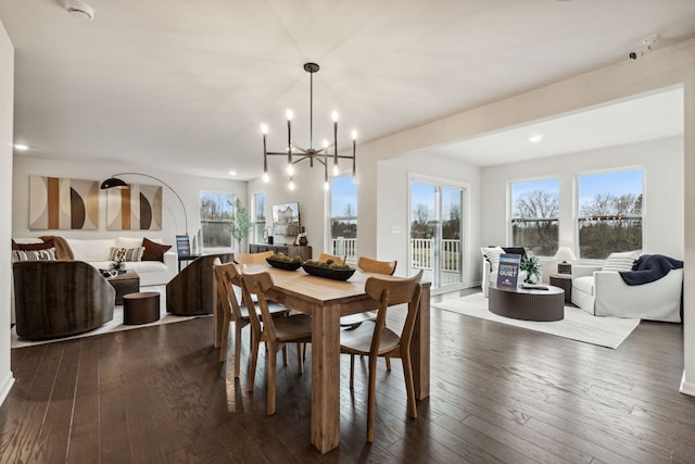
[[[683,269],[673,269],[656,281],[636,286],[627,285],[618,272],[595,272],[595,314],[680,323],[682,283]]]

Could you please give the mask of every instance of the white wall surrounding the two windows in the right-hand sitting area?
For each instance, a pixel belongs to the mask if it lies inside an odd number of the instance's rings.
[[[483,243],[513,244],[507,224],[508,185],[535,178],[559,180],[559,243],[574,247],[577,226],[573,197],[576,175],[614,168],[644,170],[644,253],[684,255],[683,236],[683,138],[604,148],[548,156],[532,162],[482,170]]]

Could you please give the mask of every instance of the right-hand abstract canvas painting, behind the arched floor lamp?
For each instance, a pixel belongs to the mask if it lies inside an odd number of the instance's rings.
[[[108,189],[106,230],[162,230],[162,187]]]

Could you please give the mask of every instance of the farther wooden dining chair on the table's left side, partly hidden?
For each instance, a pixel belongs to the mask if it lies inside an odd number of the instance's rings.
[[[218,304],[215,305],[215,318],[222,328],[219,335],[219,362],[224,362],[227,358],[227,341],[229,338],[229,324],[235,323],[235,377],[239,377],[241,366],[241,329],[251,323],[249,309],[247,304],[241,304],[237,298],[236,288],[241,289],[241,273],[239,266],[235,263],[220,264],[213,266],[216,299]],[[255,306],[253,306],[255,309]],[[268,312],[271,317],[283,316],[288,313],[288,308],[277,303],[268,303]],[[219,319],[222,319],[219,322]],[[253,342],[253,333],[250,334],[251,342]]]

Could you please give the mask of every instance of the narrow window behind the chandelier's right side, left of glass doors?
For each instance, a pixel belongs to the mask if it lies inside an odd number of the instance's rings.
[[[330,180],[330,244],[328,252],[357,259],[357,186],[352,175]]]

